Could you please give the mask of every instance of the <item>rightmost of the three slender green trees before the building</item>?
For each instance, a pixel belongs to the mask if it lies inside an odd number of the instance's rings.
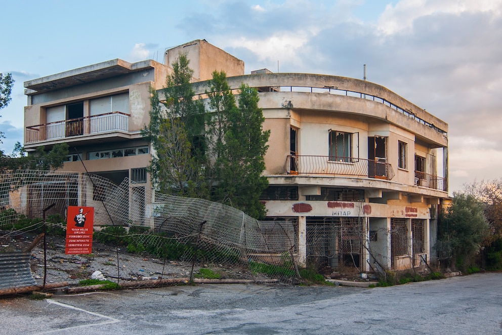
[[[244,84],[239,90],[239,107],[230,109],[227,117],[219,189],[223,202],[262,219],[266,212],[260,195],[268,186],[262,173],[270,131],[263,131],[258,91]]]

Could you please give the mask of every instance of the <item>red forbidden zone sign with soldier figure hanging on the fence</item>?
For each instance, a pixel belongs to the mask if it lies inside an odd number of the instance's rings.
[[[94,207],[68,206],[65,254],[92,254]]]

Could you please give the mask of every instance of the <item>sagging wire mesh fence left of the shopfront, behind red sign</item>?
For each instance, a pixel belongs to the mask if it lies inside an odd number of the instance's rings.
[[[30,253],[37,285],[300,279],[291,222],[257,221],[223,204],[154,193],[129,179],[115,185],[75,172],[5,173],[0,206],[0,253]],[[91,254],[65,254],[68,206],[94,208]],[[40,236],[45,243],[32,245]]]

